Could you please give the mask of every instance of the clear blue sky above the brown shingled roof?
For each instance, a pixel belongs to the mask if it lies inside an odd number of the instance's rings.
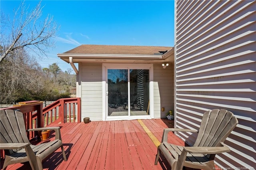
[[[13,17],[21,1],[1,0],[1,12]],[[25,1],[31,8],[39,1]],[[82,44],[174,46],[174,0],[100,1],[43,0],[43,16],[52,15],[60,26],[56,47],[42,67],[58,63],[62,71],[70,65],[57,57]],[[3,32],[4,30],[1,30]]]

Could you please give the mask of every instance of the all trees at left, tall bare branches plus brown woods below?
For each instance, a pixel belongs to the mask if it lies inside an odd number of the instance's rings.
[[[70,96],[76,87],[72,70],[62,71],[57,63],[42,68],[29,53],[47,57],[54,47],[59,27],[49,14],[42,19],[41,1],[34,7],[23,0],[14,17],[0,17],[0,103],[55,101]]]

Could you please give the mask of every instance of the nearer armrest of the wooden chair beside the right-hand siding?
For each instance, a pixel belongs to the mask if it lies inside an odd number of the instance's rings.
[[[191,154],[219,154],[223,152],[230,152],[230,148],[226,145],[218,147],[190,147],[185,146],[184,151]]]

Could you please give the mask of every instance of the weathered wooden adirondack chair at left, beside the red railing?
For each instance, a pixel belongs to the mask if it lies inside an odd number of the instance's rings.
[[[10,164],[28,162],[33,170],[42,170],[42,160],[58,148],[62,149],[64,160],[66,154],[62,145],[60,127],[35,128],[32,130],[55,130],[55,140],[38,145],[30,144],[26,135],[23,113],[13,110],[0,110],[1,138],[0,149],[4,149],[3,170]]]

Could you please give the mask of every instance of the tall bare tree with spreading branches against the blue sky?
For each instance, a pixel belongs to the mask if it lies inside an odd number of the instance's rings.
[[[29,7],[23,1],[14,12],[13,21],[1,17],[1,30],[6,32],[1,33],[0,43],[4,52],[1,54],[0,62],[9,53],[20,48],[29,48],[42,57],[42,55],[46,56],[48,47],[54,46],[52,38],[56,36],[58,27],[53,17],[48,15],[42,20],[41,2],[30,12],[28,11]]]

